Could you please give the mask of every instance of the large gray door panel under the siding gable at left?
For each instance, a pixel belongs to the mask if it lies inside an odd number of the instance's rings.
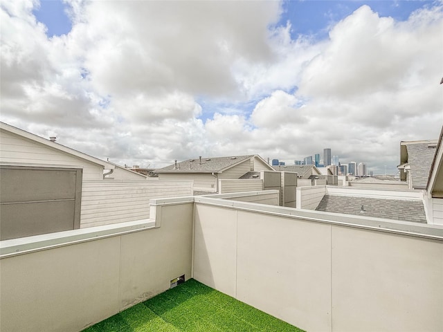
[[[0,239],[80,228],[82,169],[0,166]]]

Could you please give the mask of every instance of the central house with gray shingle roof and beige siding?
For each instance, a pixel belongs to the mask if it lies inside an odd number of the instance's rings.
[[[159,180],[194,181],[194,190],[219,192],[219,180],[238,179],[248,172],[273,171],[258,155],[188,159],[157,169]]]

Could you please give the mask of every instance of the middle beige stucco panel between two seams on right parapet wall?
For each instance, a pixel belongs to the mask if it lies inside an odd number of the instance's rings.
[[[237,299],[330,331],[330,225],[238,212]]]

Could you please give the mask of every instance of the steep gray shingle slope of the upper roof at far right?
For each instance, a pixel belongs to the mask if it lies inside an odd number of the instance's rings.
[[[426,189],[429,171],[435,155],[435,147],[428,147],[430,143],[406,143],[408,149],[408,163],[414,189]]]

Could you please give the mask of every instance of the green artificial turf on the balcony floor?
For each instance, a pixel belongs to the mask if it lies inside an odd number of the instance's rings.
[[[136,304],[84,332],[301,332],[194,279]]]

